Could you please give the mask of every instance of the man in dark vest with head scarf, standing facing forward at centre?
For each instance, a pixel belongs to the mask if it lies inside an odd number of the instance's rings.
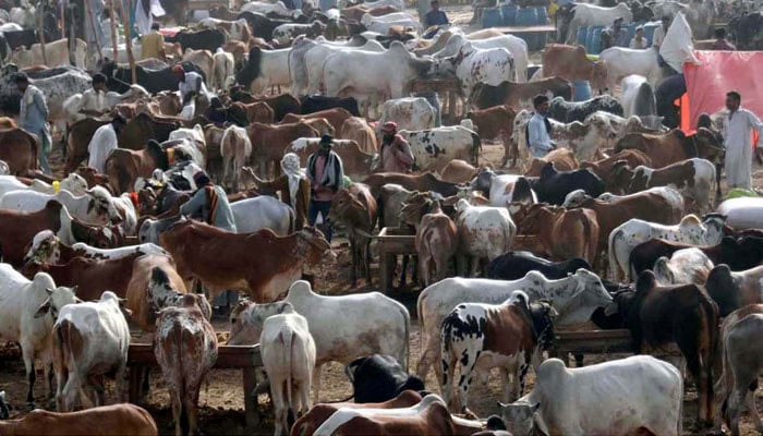
[[[320,136],[320,145],[317,153],[307,158],[307,179],[311,183],[310,207],[307,208],[307,223],[315,226],[318,213],[326,222],[326,241],[331,242],[334,229],[328,222],[328,213],[331,210],[331,201],[337,191],[344,183],[344,168],[342,159],[331,150],[331,135]]]

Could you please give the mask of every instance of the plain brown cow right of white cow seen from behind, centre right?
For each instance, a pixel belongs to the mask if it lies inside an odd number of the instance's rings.
[[[542,254],[549,259],[580,257],[591,265],[596,261],[600,229],[595,211],[535,204],[516,215],[521,234],[537,235]]]

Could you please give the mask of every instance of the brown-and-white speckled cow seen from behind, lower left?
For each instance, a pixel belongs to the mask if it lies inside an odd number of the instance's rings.
[[[204,305],[208,306],[204,295],[185,294],[179,307],[157,315],[154,354],[172,398],[175,435],[196,433],[198,390],[217,361],[217,336],[202,312]]]

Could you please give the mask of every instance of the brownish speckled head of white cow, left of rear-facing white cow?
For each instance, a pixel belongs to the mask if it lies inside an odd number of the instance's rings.
[[[239,303],[230,313],[230,336],[228,346],[253,346],[259,342],[265,319],[272,315],[293,313],[294,307],[286,302],[256,304],[247,299]]]

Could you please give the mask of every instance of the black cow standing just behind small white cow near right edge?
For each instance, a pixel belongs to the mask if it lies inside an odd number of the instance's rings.
[[[739,240],[725,237],[719,244],[713,246],[697,246],[653,239],[637,245],[630,253],[631,275],[635,277],[646,269],[652,269],[654,263],[662,256],[670,257],[679,250],[691,247],[704,252],[714,265],[727,264],[735,271],[750,269],[763,262],[763,239],[756,237],[743,237]]]

